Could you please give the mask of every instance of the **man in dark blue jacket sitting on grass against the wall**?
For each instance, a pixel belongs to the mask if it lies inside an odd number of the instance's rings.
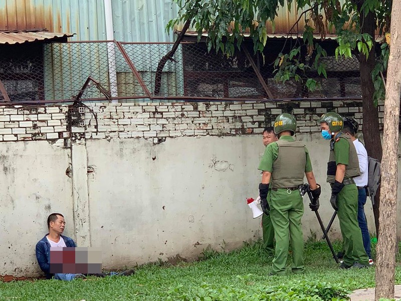
[[[47,218],[47,225],[49,228],[49,233],[46,234],[37,244],[36,244],[36,259],[38,260],[39,266],[42,271],[46,273],[46,278],[51,279],[54,277],[59,280],[70,281],[75,278],[85,278],[83,274],[67,274],[67,273],[50,273],[50,248],[57,247],[77,247],[74,240],[70,237],[61,235],[64,232],[64,228],[66,222],[64,220],[64,216],[61,213],[52,213]],[[90,274],[96,275],[100,277],[104,277],[106,275],[121,275],[121,276],[129,276],[132,275],[135,271],[133,269],[122,271],[122,272],[110,272],[108,274]]]

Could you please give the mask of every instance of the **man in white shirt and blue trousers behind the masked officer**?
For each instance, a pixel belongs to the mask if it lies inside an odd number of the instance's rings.
[[[362,232],[363,247],[365,248],[366,254],[369,257],[369,264],[373,264],[372,257],[370,255],[370,235],[367,228],[367,221],[363,206],[366,204],[366,187],[367,187],[367,152],[365,146],[355,137],[358,131],[358,122],[355,118],[346,117],[344,118],[343,132],[348,133],[351,136],[351,140],[354,143],[356,153],[358,155],[360,176],[353,178],[355,185],[358,188],[358,224]]]

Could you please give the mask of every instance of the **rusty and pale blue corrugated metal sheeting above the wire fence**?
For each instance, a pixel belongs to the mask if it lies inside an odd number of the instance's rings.
[[[342,5],[345,0],[340,0]],[[165,26],[177,17],[171,0],[112,0],[114,39],[122,42],[172,42],[175,36]],[[302,33],[305,21],[290,31],[302,11],[292,1],[277,11],[274,26],[266,23],[268,34]],[[103,0],[0,0],[0,31],[43,31],[76,35],[73,41],[107,40]],[[175,29],[180,30],[182,24]],[[194,31],[194,29],[189,29]],[[330,33],[332,34],[332,33]],[[329,35],[328,35],[329,36]]]

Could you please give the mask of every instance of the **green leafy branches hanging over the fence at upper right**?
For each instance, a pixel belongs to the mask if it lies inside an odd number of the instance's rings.
[[[222,51],[227,56],[235,53],[235,47],[240,49],[247,33],[252,39],[255,52],[263,52],[267,43],[266,23],[274,28],[275,17],[284,0],[173,0],[179,7],[178,17],[167,24],[171,30],[180,22],[190,20],[191,27],[198,32],[208,32],[207,44],[211,51]],[[308,90],[318,86],[316,79],[308,78],[309,71],[315,71],[318,77],[327,78],[326,65],[322,58],[327,56],[320,43],[314,39],[314,34],[323,40],[327,33],[335,32],[338,47],[335,56],[350,58],[375,55],[375,41],[366,33],[361,32],[361,26],[369,14],[372,14],[380,34],[387,32],[391,17],[391,2],[381,0],[364,0],[360,5],[356,0],[288,0],[288,10],[295,3],[300,19],[304,20],[302,39],[296,39],[288,53],[280,53],[274,62],[275,79],[285,83],[293,80],[304,85]],[[291,12],[295,14],[295,12]],[[294,24],[292,30],[297,28]],[[388,47],[384,47],[387,48]],[[283,48],[284,49],[284,48]],[[359,59],[360,59],[359,57]],[[384,86],[381,73],[385,72],[388,56],[381,53],[377,59],[375,71],[372,74],[376,93],[374,97],[383,98]]]

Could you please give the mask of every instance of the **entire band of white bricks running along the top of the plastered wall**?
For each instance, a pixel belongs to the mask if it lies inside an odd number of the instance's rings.
[[[87,108],[72,114],[72,121],[69,121],[70,107],[66,105],[4,106],[0,107],[0,141],[73,136],[86,139],[144,137],[153,141],[157,137],[260,134],[282,112],[296,116],[298,131],[316,132],[319,130],[316,120],[328,111],[355,116],[361,121],[362,103],[356,102],[359,106],[354,106],[355,100],[95,103],[92,109],[97,114],[98,128]],[[382,106],[378,106],[381,119]]]

